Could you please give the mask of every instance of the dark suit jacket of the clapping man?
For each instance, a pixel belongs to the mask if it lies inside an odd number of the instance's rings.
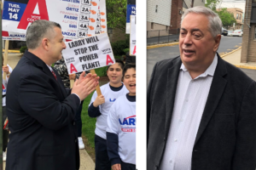
[[[79,169],[74,116],[80,101],[55,74],[57,81],[43,60],[26,51],[9,77],[6,170]]]

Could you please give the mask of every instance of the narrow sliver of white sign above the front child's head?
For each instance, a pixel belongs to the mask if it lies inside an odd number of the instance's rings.
[[[136,55],[136,15],[131,15],[130,55]]]

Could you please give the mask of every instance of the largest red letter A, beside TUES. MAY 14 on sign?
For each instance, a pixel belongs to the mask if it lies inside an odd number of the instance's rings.
[[[34,9],[37,7],[39,14],[33,14]],[[34,20],[49,20],[48,11],[45,0],[33,0],[28,1],[24,14],[20,19],[20,23],[17,28],[26,30],[28,24]]]

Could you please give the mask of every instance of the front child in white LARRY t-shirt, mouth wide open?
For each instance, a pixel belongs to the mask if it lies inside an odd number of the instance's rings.
[[[136,170],[136,65],[125,65],[123,75],[129,94],[116,99],[108,113],[108,156],[113,170]]]

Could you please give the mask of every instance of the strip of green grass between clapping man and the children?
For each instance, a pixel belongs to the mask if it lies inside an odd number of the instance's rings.
[[[83,110],[81,113],[82,119],[82,133],[88,139],[90,147],[95,148],[94,137],[95,137],[95,127],[96,127],[96,118],[91,118],[88,116],[88,105],[90,104],[90,99],[93,93],[87,96],[84,99]]]

